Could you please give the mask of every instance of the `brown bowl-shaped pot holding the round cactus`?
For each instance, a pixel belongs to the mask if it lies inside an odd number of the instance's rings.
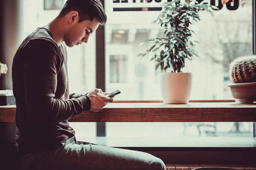
[[[256,82],[233,83],[227,85],[230,87],[232,96],[237,103],[253,103],[256,102]]]

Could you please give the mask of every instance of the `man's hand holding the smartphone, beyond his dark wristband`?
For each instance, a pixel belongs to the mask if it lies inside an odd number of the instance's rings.
[[[101,89],[94,89],[90,92],[88,92],[86,95],[90,97],[91,101],[91,108],[90,111],[93,112],[99,112],[103,109],[105,105],[108,104],[108,102],[113,102],[113,97],[107,97],[105,96],[107,93],[102,93]]]

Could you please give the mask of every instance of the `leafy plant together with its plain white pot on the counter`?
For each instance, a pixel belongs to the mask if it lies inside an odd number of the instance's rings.
[[[216,6],[207,4],[199,4],[185,2],[180,0],[172,0],[163,3],[163,8],[157,19],[154,21],[160,24],[165,30],[163,37],[157,37],[145,42],[150,45],[144,53],[139,57],[144,57],[149,53],[154,56],[150,61],[155,61],[155,70],[161,68],[160,88],[163,96],[163,102],[168,104],[185,104],[189,102],[189,96],[192,84],[192,74],[183,73],[187,59],[192,61],[194,56],[198,56],[193,49],[195,42],[190,40],[194,33],[189,29],[192,21],[200,20],[199,12],[208,11],[212,15],[212,8],[218,9]]]

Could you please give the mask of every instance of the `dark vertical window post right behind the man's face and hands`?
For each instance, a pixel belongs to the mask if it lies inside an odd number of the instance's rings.
[[[100,0],[105,8],[105,0]],[[105,27],[96,30],[96,88],[105,91]],[[106,136],[106,123],[96,122],[96,136]]]

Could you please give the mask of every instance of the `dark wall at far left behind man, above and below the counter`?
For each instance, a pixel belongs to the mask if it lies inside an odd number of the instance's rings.
[[[0,90],[12,89],[12,59],[23,38],[23,0],[0,0],[0,62],[7,64],[7,74],[0,76]],[[12,150],[17,127],[14,122],[0,122],[0,150]]]

